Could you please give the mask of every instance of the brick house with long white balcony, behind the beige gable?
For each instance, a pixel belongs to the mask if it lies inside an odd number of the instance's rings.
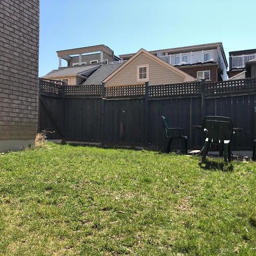
[[[194,77],[210,81],[226,80],[228,62],[222,43],[200,44],[196,46],[158,49],[153,55],[174,65]],[[134,53],[119,55],[121,61],[129,60]]]

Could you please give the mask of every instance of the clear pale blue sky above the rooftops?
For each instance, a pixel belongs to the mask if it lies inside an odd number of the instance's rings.
[[[256,48],[255,0],[42,0],[39,76],[58,67],[56,51],[105,44],[115,55],[222,42]]]

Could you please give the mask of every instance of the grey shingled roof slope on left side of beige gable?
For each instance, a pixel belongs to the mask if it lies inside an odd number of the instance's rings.
[[[92,73],[92,75],[88,77],[88,79],[83,84],[100,84],[104,79],[106,79],[106,77],[111,75],[121,65],[122,63],[101,65],[95,72]]]

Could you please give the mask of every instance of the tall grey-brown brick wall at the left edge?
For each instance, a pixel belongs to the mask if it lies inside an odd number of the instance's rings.
[[[39,0],[0,0],[0,140],[34,139]]]

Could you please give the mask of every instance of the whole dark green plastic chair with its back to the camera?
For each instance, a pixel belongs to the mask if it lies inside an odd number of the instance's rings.
[[[229,117],[206,116],[202,123],[202,131],[205,133],[202,162],[205,162],[210,144],[223,147],[224,161],[231,160],[231,139],[234,134],[233,123]]]

